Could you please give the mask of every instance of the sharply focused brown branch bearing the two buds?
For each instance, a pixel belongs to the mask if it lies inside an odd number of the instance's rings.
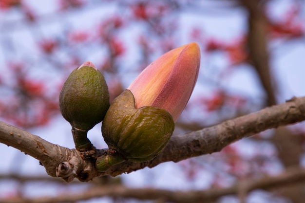
[[[291,125],[305,120],[305,97],[292,98],[284,104],[225,121],[219,125],[172,136],[166,148],[157,157],[145,163],[126,161],[115,165],[105,173],[98,172],[94,159],[83,159],[76,149],[49,143],[36,135],[0,122],[0,142],[17,148],[38,159],[49,175],[72,181],[89,181],[105,174],[117,176],[122,173],[154,167],[160,163],[179,162],[203,154],[220,151],[229,144],[267,129]],[[103,149],[98,150],[103,154]],[[65,171],[71,173],[65,175]],[[59,172],[58,172],[59,171]]]

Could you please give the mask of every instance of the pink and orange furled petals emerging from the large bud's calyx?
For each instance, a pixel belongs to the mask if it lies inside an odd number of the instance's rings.
[[[137,109],[159,107],[176,121],[191,97],[199,67],[200,49],[192,42],[160,56],[127,89],[133,93]]]

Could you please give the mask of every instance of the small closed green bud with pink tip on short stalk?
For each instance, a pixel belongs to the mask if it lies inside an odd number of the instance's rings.
[[[59,95],[59,107],[72,126],[76,149],[86,150],[85,146],[91,145],[87,131],[103,120],[109,105],[104,76],[91,62],[83,63],[69,75]]]

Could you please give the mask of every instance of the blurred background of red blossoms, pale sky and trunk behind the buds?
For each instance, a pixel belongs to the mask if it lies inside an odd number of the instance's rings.
[[[193,41],[201,49],[200,73],[174,135],[305,95],[304,0],[0,0],[0,120],[74,148],[70,124],[58,109],[59,91],[72,70],[93,62],[113,100],[154,59]],[[100,128],[90,130],[89,139],[96,148],[107,148]],[[304,141],[300,123],[210,155],[69,184],[48,177],[38,160],[0,144],[0,202],[56,198],[106,184],[172,191],[230,187],[304,166]],[[247,203],[304,199],[303,182],[253,190]],[[119,196],[71,200],[143,201],[155,202]],[[215,202],[239,198],[221,196]]]

